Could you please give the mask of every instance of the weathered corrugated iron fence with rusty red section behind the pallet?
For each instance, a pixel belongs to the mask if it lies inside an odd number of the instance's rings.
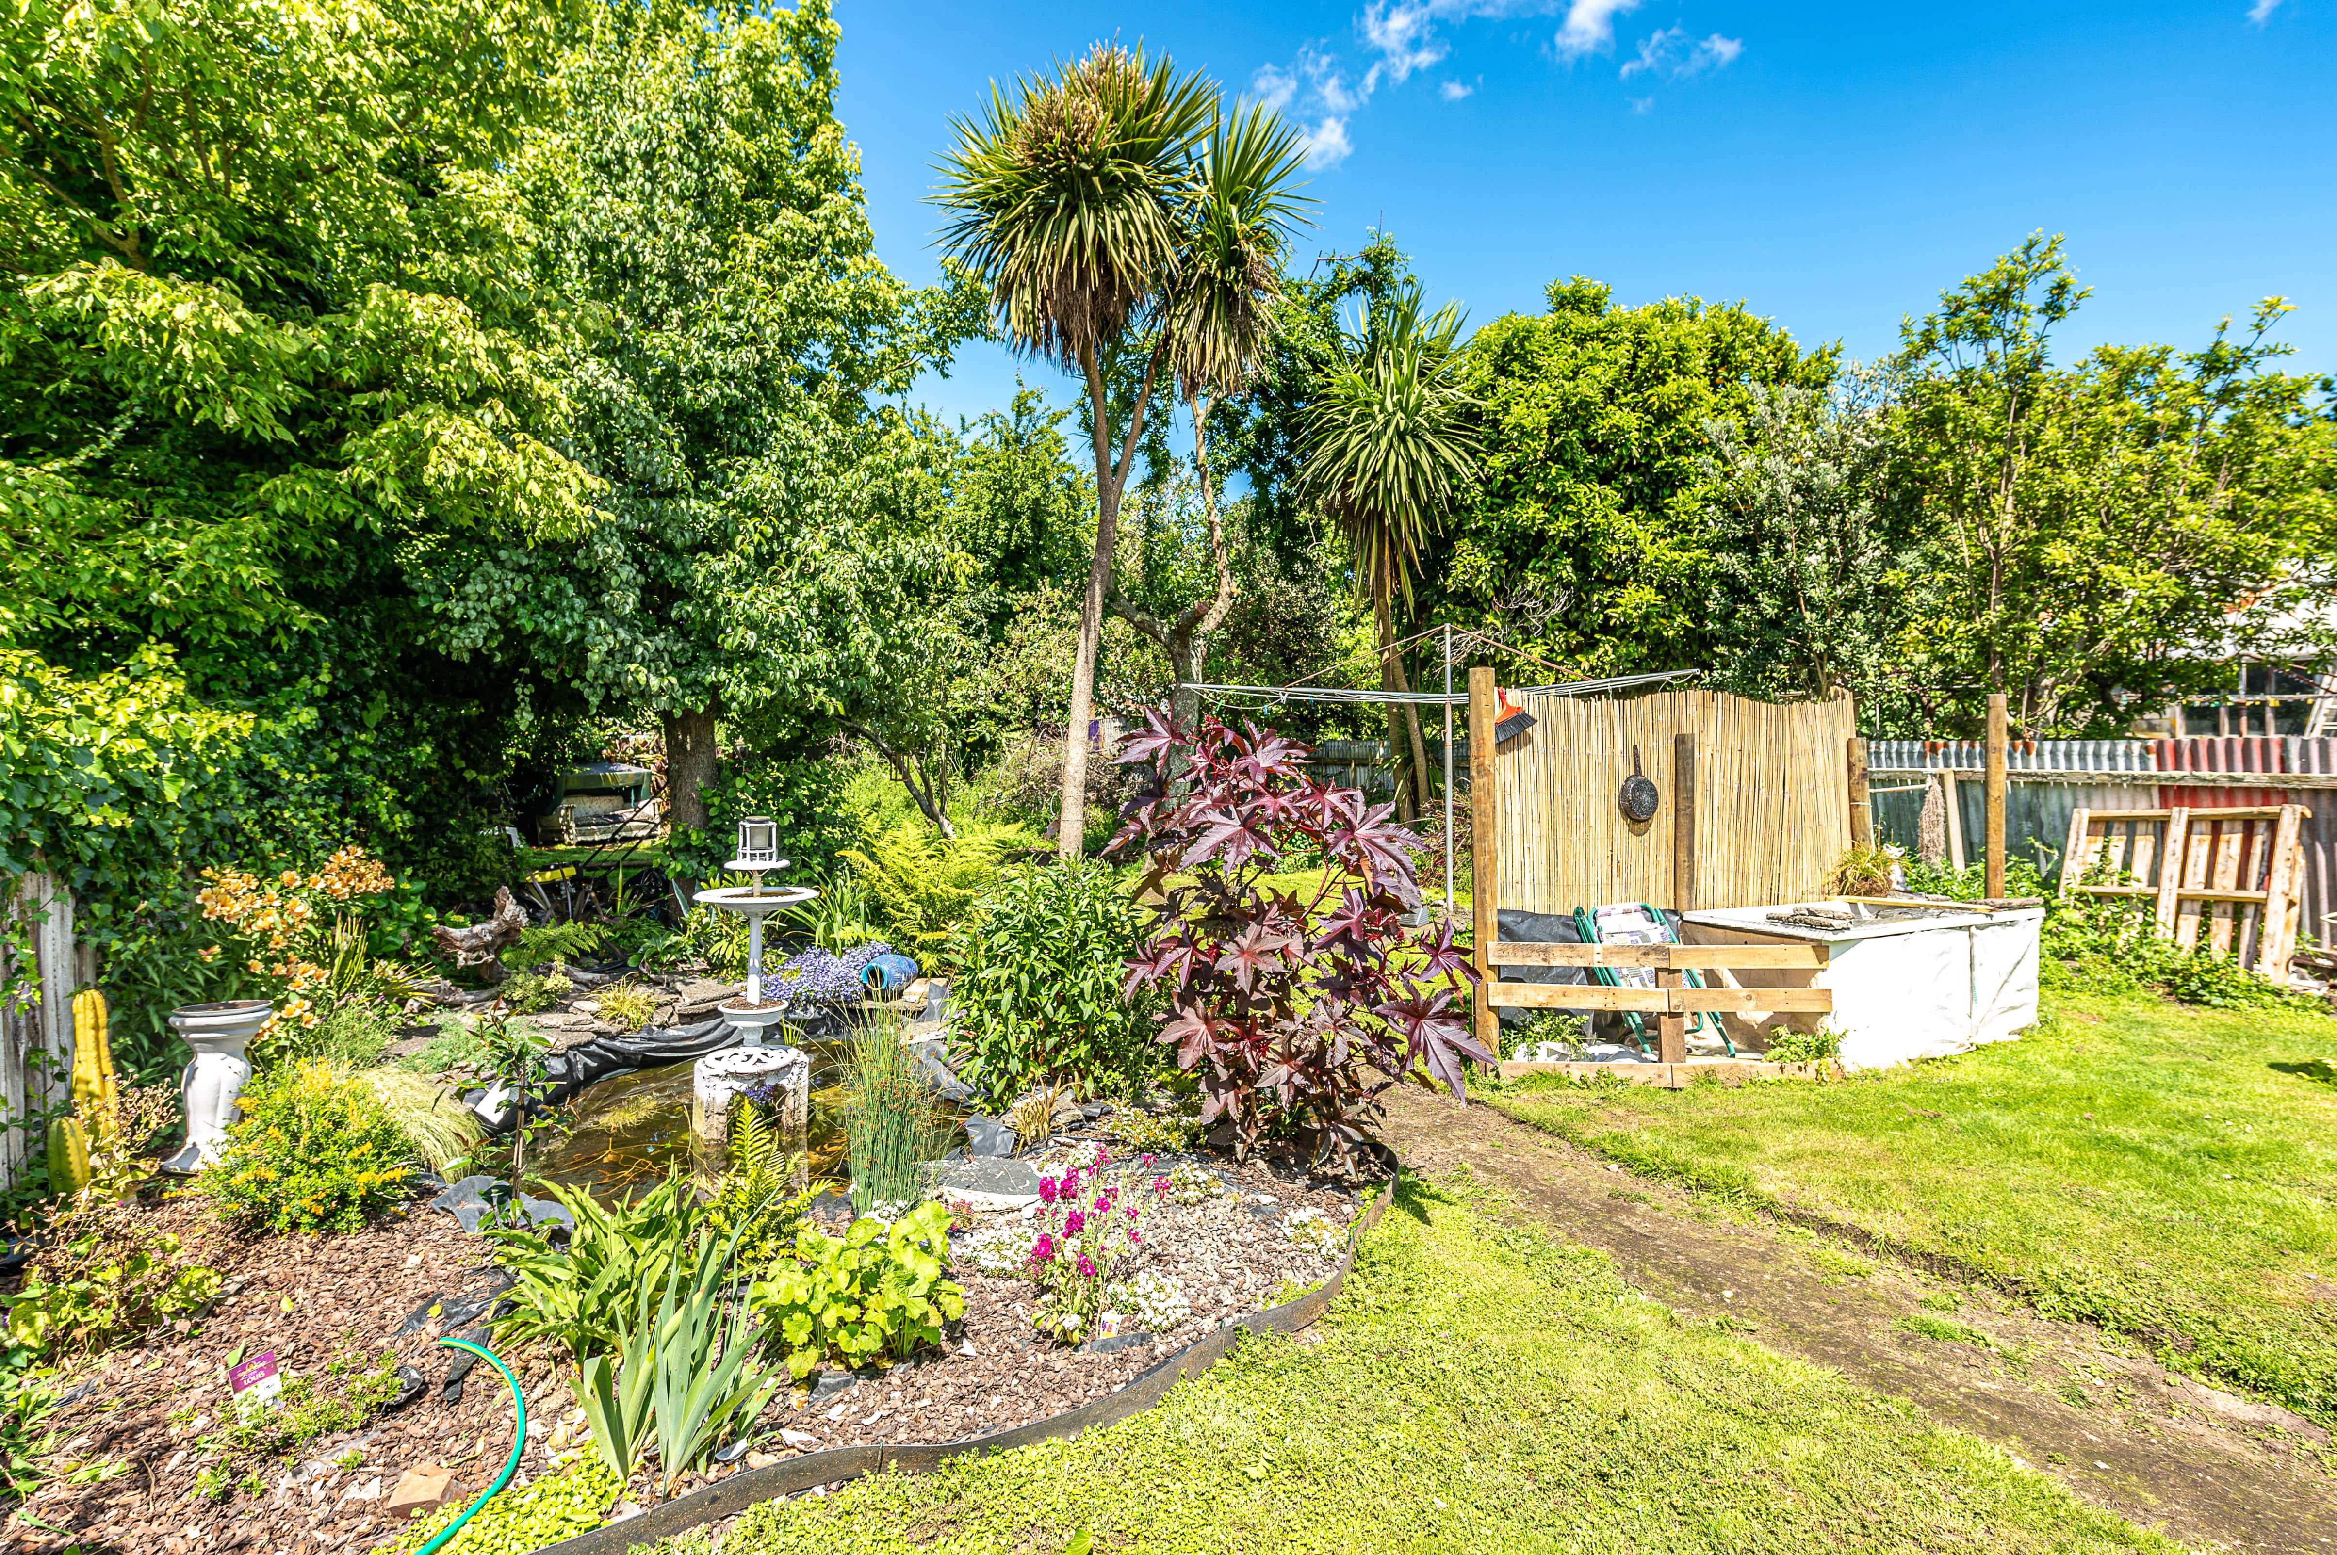
[[[1979,740],[1870,740],[1874,831],[1914,850],[1923,787],[1951,773],[1965,857],[1979,859],[1986,794]],[[2337,740],[2194,735],[2187,740],[2014,740],[2007,759],[2005,852],[2054,878],[2068,815],[2171,806],[2304,806],[2300,934],[2328,943],[2337,913]],[[2258,782],[2246,782],[2255,778]]]

